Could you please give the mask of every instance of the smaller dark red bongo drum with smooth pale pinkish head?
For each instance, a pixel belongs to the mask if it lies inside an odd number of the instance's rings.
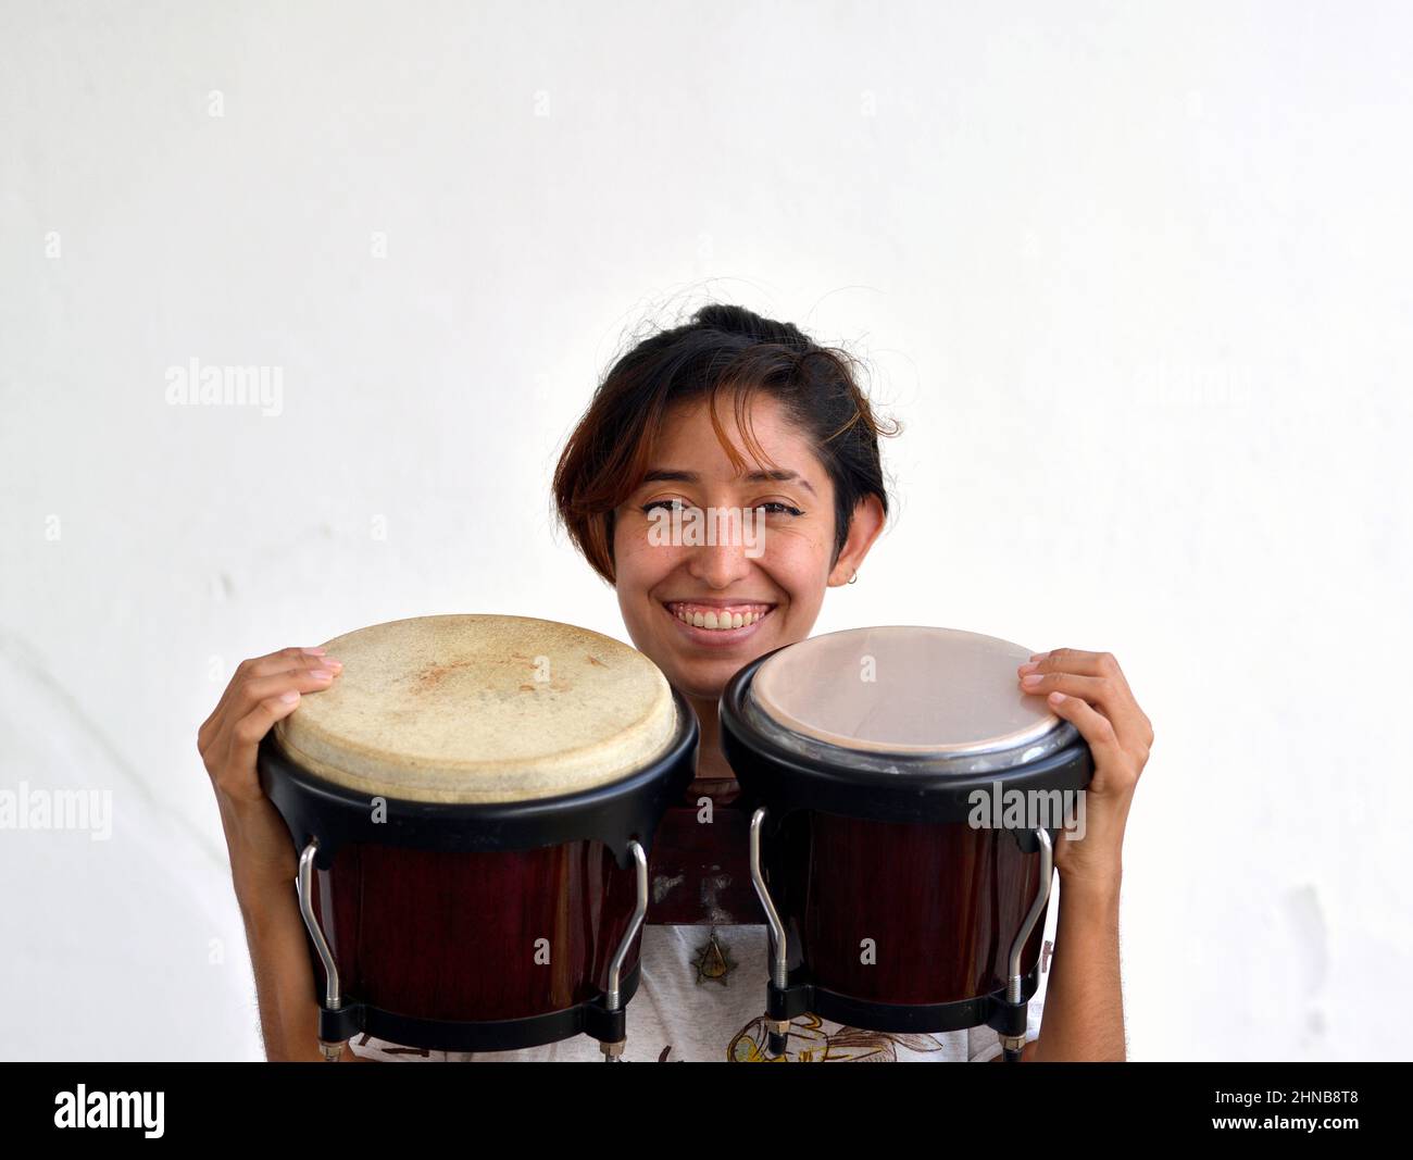
[[[812,1012],[879,1031],[985,1024],[1019,1057],[1054,838],[1092,774],[1078,730],[1022,692],[1029,657],[952,629],[853,629],[728,682],[774,1053]]]

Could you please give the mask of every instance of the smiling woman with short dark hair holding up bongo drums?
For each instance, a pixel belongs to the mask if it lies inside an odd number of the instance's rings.
[[[615,586],[633,644],[702,726],[690,795],[732,773],[716,702],[743,664],[805,639],[827,588],[849,584],[887,514],[880,430],[849,357],[796,326],[712,305],[625,355],[571,435],[554,479],[560,519]],[[664,513],[733,513],[736,535],[664,537]],[[678,527],[681,524],[678,523]],[[750,531],[755,534],[750,534]],[[294,894],[288,831],[263,795],[256,747],[300,698],[338,680],[321,649],[244,661],[198,745],[220,807],[271,1060],[318,1060],[315,982]],[[1122,1060],[1118,914],[1123,828],[1153,730],[1108,653],[1060,649],[1020,665],[1089,743],[1095,773],[1082,842],[1056,849],[1054,959],[1031,1000],[1023,1060]],[[722,800],[726,800],[725,797]],[[656,851],[654,851],[656,856]],[[629,1005],[629,1060],[760,1060],[763,924],[650,924]],[[1043,1023],[1041,1023],[1043,1014]],[[883,1034],[794,1020],[788,1060],[988,1060],[989,1029]],[[363,1058],[596,1060],[584,1036],[506,1053],[428,1053],[363,1038]]]

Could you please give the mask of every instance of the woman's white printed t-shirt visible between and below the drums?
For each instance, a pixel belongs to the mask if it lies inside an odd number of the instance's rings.
[[[715,945],[712,945],[715,940]],[[627,1005],[627,1063],[766,1063],[766,981],[770,937],[762,925],[646,925],[642,979]],[[1048,957],[1030,1000],[1027,1040],[1040,1034]],[[403,1061],[599,1061],[598,1040],[575,1036],[516,1051],[427,1051],[355,1036],[355,1054]],[[1000,1054],[991,1027],[903,1033],[841,1027],[812,1014],[790,1027],[788,1063],[982,1063]]]

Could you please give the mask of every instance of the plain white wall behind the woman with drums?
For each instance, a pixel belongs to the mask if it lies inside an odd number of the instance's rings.
[[[260,1055],[198,723],[242,657],[377,620],[622,639],[550,470],[627,336],[721,298],[849,345],[907,427],[820,632],[1125,665],[1132,1057],[1407,1058],[1369,999],[1413,966],[1410,35],[3,0],[0,788],[114,819],[0,831],[0,1055]],[[281,367],[281,413],[168,406],[192,357]]]

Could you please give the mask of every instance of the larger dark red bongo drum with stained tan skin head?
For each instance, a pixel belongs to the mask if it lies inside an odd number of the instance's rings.
[[[396,620],[260,746],[300,851],[319,1041],[617,1060],[647,852],[691,781],[691,706],[634,649],[520,616]]]

